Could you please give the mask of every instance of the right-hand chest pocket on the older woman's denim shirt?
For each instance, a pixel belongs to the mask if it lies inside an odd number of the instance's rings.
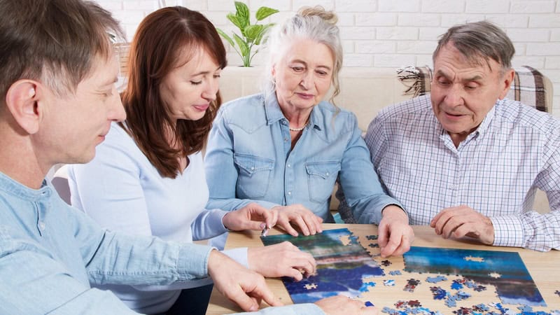
[[[340,170],[340,161],[322,161],[305,163],[309,199],[313,202],[325,202],[335,187]]]

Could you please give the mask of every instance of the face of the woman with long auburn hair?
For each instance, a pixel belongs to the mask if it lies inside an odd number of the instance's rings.
[[[180,59],[188,57],[183,52]],[[197,48],[186,64],[165,76],[160,94],[174,120],[199,120],[216,99],[222,69],[204,48]]]

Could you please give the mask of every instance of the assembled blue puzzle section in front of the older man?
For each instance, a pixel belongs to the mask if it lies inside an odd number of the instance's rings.
[[[546,306],[518,253],[412,246],[403,256],[407,272],[461,274],[495,286],[505,304]]]

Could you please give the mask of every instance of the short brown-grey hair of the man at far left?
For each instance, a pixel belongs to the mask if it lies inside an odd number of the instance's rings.
[[[38,80],[62,97],[109,58],[109,34],[123,38],[111,13],[81,0],[0,1],[0,98],[22,78]],[[30,22],[32,21],[32,22]]]

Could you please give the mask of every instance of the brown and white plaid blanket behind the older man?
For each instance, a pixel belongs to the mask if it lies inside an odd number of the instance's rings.
[[[549,113],[552,104],[547,104],[547,90],[542,73],[531,66],[519,66],[514,70],[515,77],[506,97]],[[407,66],[397,69],[397,77],[406,87],[403,94],[411,95],[411,98],[430,92],[432,76],[429,66]]]

